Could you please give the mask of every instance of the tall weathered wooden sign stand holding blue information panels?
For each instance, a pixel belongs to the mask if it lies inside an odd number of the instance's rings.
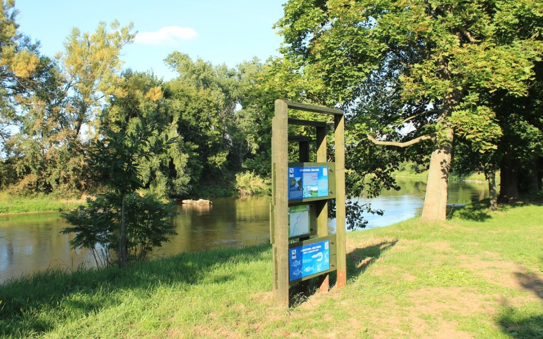
[[[335,162],[327,162],[323,121],[289,119],[288,110],[334,117]],[[310,138],[289,136],[288,124],[314,126],[317,162],[310,159]],[[345,265],[345,142],[343,111],[275,100],[271,123],[270,242],[273,249],[273,289],[289,303],[289,286],[319,278],[329,289],[328,274],[337,270],[337,286],[346,284]],[[288,163],[288,142],[299,143],[299,162]],[[336,199],[336,234],[328,234],[328,200]]]

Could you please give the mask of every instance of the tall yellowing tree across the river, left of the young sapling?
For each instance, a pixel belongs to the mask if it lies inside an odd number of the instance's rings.
[[[73,195],[92,187],[88,141],[98,130],[106,99],[126,95],[119,53],[133,37],[131,24],[113,22],[110,28],[100,23],[92,34],[74,28],[65,51],[55,59],[40,57],[33,86],[14,96],[20,113],[12,113],[10,123],[18,132],[5,148],[19,178],[13,193]]]

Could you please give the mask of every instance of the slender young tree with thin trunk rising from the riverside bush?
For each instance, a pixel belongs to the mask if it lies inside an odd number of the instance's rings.
[[[103,182],[110,187],[121,201],[118,237],[118,265],[127,264],[128,244],[125,218],[126,197],[143,186],[140,179],[140,161],[150,160],[160,151],[169,148],[177,140],[176,137],[156,138],[156,121],[153,116],[143,122],[135,121],[132,131],[122,129],[103,130],[104,139],[98,139],[92,148],[91,166],[96,170]]]

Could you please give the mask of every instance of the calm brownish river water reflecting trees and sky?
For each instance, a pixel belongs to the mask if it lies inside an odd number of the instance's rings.
[[[384,215],[367,215],[368,228],[387,226],[412,218],[422,209],[426,183],[398,178],[399,191],[386,191],[369,201]],[[470,203],[488,197],[485,184],[452,182],[449,203]],[[177,207],[173,236],[155,255],[206,248],[250,245],[269,240],[269,198],[250,196],[213,199],[212,206]],[[60,234],[66,225],[60,213],[0,216],[0,282],[48,267],[92,266],[90,253],[71,250],[73,235]],[[329,223],[331,229],[334,221]]]

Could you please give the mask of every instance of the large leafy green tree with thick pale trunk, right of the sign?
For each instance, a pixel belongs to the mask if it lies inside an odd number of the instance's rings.
[[[479,152],[495,148],[488,98],[528,93],[543,53],[542,6],[292,0],[277,27],[288,71],[304,82],[306,98],[342,105],[375,144],[432,142],[422,219],[444,220],[455,132],[475,140]],[[536,24],[519,34],[522,22]],[[489,128],[471,128],[478,121]]]

